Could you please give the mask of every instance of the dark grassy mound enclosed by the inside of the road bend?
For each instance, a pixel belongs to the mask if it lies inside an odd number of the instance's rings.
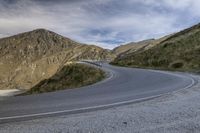
[[[105,78],[105,73],[86,64],[69,64],[49,79],[45,79],[22,95],[73,89],[90,85]]]

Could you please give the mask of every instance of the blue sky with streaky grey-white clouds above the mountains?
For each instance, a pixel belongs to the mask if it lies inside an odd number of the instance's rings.
[[[200,0],[0,0],[0,38],[45,28],[112,49],[200,22]]]

